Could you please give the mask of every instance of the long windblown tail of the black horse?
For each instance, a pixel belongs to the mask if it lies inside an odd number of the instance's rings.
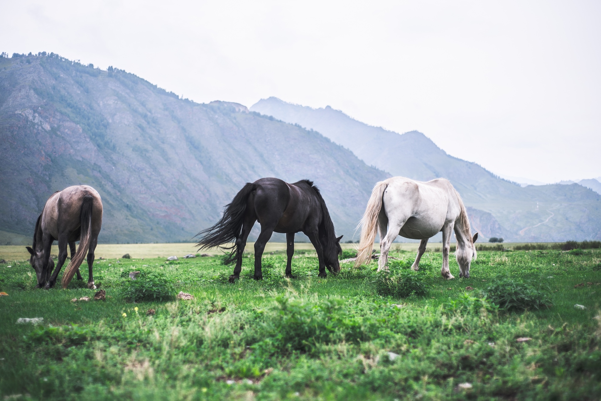
[[[234,242],[231,246],[222,246],[224,249],[232,249],[230,255],[224,261],[228,264],[234,261],[236,249],[236,240],[242,232],[244,217],[246,215],[246,203],[248,196],[252,191],[257,189],[257,184],[246,183],[244,188],[236,194],[231,203],[225,206],[224,215],[219,219],[213,227],[200,231],[196,236],[203,236],[196,244],[200,249],[215,248],[216,246],[224,245],[224,243]]]

